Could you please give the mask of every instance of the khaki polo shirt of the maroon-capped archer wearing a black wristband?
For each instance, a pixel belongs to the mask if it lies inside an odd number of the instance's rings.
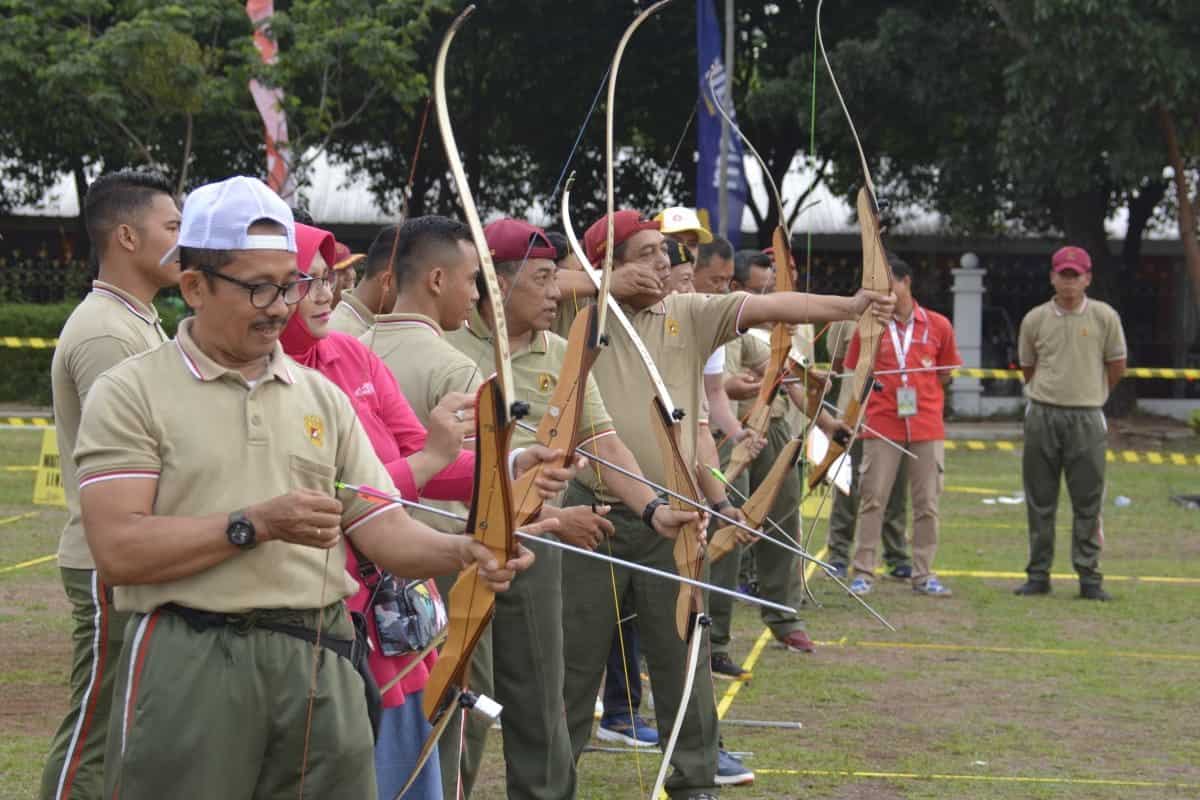
[[[494,371],[496,349],[492,347],[492,331],[478,309],[470,312],[470,319],[460,330],[446,333],[446,341],[474,361],[481,373]],[[520,351],[514,350],[511,357],[516,399],[529,404],[529,415],[523,421],[538,427],[546,416],[550,398],[558,386],[558,374],[566,357],[566,339],[550,331],[540,331],[534,333],[529,347]],[[612,433],[612,419],[600,399],[595,378],[589,374],[583,393],[583,410],[580,414],[580,444],[599,439]],[[521,427],[512,432],[512,447],[528,447],[534,444],[538,444],[534,433]]]

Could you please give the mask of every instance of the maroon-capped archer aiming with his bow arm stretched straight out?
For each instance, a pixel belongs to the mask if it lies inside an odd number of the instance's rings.
[[[683,458],[695,464],[696,425],[702,404],[701,372],[708,356],[732,341],[742,330],[772,321],[805,323],[852,319],[871,307],[871,313],[887,318],[894,296],[859,293],[856,297],[833,297],[782,293],[773,295],[671,295],[664,296],[661,283],[670,271],[659,223],[642,219],[636,211],[613,216],[613,265],[617,271],[638,270],[658,278],[658,291],[641,291],[622,297],[628,305],[630,323],[662,375],[674,405],[685,411],[679,447]],[[600,264],[607,237],[607,219],[593,224],[584,235],[587,255]],[[566,303],[564,308],[569,311]],[[664,453],[659,452],[650,414],[654,396],[641,356],[624,330],[612,326],[605,357],[596,361],[593,374],[605,405],[622,441],[629,445],[643,473],[662,485],[667,475]],[[642,523],[642,509],[628,509],[611,489],[588,471],[568,491],[566,505],[593,501],[613,505],[608,513],[616,527],[613,554],[656,569],[674,571],[673,542],[655,536]],[[679,705],[686,702],[686,715],[672,757],[676,774],[667,781],[672,796],[688,796],[715,790],[718,759],[716,708],[707,658],[700,667],[689,698],[683,697],[683,667],[688,663],[684,642],[676,632],[676,588],[655,583],[644,576],[605,565],[571,559],[563,564],[563,616],[570,619],[564,636],[566,656],[565,698],[571,744],[582,753],[592,729],[593,703],[604,663],[608,654],[617,619],[612,608],[612,582],[617,595],[632,588],[634,604],[642,634],[642,650],[654,685],[655,717],[659,741],[671,733]]]

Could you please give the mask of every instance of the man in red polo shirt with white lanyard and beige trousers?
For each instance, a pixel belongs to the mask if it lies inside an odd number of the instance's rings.
[[[962,359],[950,320],[920,307],[913,297],[912,269],[890,253],[888,264],[895,278],[896,307],[893,320],[880,338],[875,362],[876,380],[883,385],[883,391],[870,392],[866,422],[871,429],[864,427],[858,434],[863,440],[863,462],[859,465],[862,504],[858,509],[854,579],[850,589],[858,595],[871,590],[883,527],[883,504],[892,494],[900,459],[908,458],[892,443],[881,439],[887,437],[917,455],[916,461],[908,464],[912,589],[930,597],[949,597],[950,590],[937,579],[932,567],[937,552],[937,503],[946,471],[943,389],[950,381],[950,373],[929,368],[959,366]],[[853,369],[858,363],[860,347],[862,341],[856,332],[846,355],[847,368]],[[895,374],[895,371],[912,372]],[[893,374],[878,374],[889,372]]]

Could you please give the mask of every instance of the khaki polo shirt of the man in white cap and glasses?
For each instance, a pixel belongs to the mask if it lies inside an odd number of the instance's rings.
[[[74,456],[79,486],[156,481],[154,513],[226,513],[293,489],[342,501],[342,530],[398,506],[334,491],[334,481],[395,492],[346,393],[301,367],[276,344],[268,372],[251,386],[209,359],[185,320],[173,342],[136,355],[96,381]],[[281,540],[166,583],[116,587],[124,612],[174,602],[211,612],[319,608],[358,590],[346,572],[346,543],[331,551]]]

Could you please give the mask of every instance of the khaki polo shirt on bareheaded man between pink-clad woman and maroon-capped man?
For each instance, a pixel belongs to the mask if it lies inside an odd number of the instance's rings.
[[[430,413],[450,392],[475,393],[491,374],[450,344],[442,327],[422,314],[379,314],[371,330],[359,337],[385,365],[413,407],[421,425],[428,427]],[[467,516],[467,506],[452,500],[422,500],[428,505]],[[425,524],[446,533],[463,529],[461,522],[427,511],[413,511]]]

